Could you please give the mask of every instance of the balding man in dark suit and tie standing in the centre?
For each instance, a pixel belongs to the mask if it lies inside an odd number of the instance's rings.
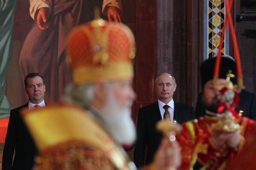
[[[176,87],[175,78],[171,74],[162,73],[155,80],[158,101],[139,109],[136,130],[138,139],[134,150],[134,163],[137,167],[144,165],[146,146],[146,164],[149,164],[153,160],[153,155],[162,138],[162,134],[156,130],[156,123],[158,121],[163,120],[164,117],[168,117],[171,121],[175,120],[179,124],[182,124],[183,122],[196,118],[193,107],[174,103],[173,95]]]

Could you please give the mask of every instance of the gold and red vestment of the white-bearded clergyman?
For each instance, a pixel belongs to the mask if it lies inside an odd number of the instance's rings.
[[[87,110],[54,104],[24,110],[22,116],[39,152],[35,170],[136,169],[122,147]]]

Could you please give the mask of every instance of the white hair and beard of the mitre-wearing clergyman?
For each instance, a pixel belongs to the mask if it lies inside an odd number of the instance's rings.
[[[105,82],[108,90],[107,101],[98,114],[103,118],[112,138],[124,144],[132,144],[136,139],[136,128],[130,116],[132,101],[127,101],[125,107],[118,105],[114,96],[114,88]],[[94,84],[74,85],[65,88],[62,100],[79,106],[89,105],[94,98]]]

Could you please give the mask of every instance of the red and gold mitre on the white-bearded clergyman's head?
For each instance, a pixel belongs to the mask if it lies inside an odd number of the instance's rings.
[[[67,55],[75,84],[132,78],[134,36],[122,23],[93,20],[71,31]]]

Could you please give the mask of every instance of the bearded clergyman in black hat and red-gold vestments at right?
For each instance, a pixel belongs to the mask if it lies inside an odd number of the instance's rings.
[[[235,114],[239,100],[233,86],[237,82],[235,62],[221,57],[214,81],[215,62],[216,58],[210,58],[200,67],[205,116],[182,124],[182,133],[177,135],[182,148],[181,170],[224,170],[241,151],[248,130],[255,124]]]

